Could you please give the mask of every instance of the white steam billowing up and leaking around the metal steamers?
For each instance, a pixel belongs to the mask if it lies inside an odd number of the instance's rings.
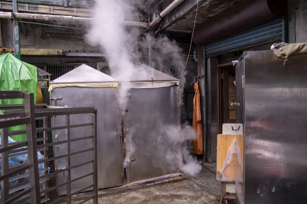
[[[140,4],[139,7],[145,8],[143,4]],[[119,81],[131,81],[132,77],[135,78],[135,76],[140,75],[142,77],[146,74],[139,73],[136,67],[142,63],[148,64],[149,43],[153,48],[152,66],[166,74],[180,78],[185,66],[183,50],[175,41],[169,40],[166,36],[154,38],[148,35],[148,32],[142,33],[140,28],[125,26],[126,21],[134,21],[136,13],[134,8],[124,0],[96,1],[91,30],[86,36],[87,41],[94,46],[101,47],[106,55],[111,76]],[[181,79],[181,93],[184,90],[185,75],[186,72]],[[127,95],[129,95],[129,89],[124,85],[120,85],[119,100],[122,110],[126,109]],[[180,133],[176,132],[178,131],[178,126],[160,124],[160,128],[157,129],[159,130],[157,130],[156,136],[167,135],[167,137],[176,140],[176,142],[184,142],[187,139],[196,137],[195,131],[191,127],[183,128],[181,137],[178,137]],[[174,135],[177,135],[177,137],[174,137]],[[180,141],[178,141],[178,138],[181,138]],[[129,140],[129,138],[127,139]],[[134,151],[134,145],[126,147],[126,151],[126,160],[129,160]],[[178,160],[182,162],[181,157],[179,158],[178,155],[166,150],[161,151],[161,157],[166,157],[170,163],[172,161],[177,161],[178,163]],[[187,149],[183,149],[183,157],[181,170],[184,173],[195,176],[200,172],[201,165],[189,155]]]

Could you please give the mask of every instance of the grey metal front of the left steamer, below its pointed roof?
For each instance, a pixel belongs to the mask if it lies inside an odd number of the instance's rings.
[[[117,88],[85,88],[85,87],[64,87],[52,90],[52,97],[59,98],[58,106],[68,107],[95,107],[97,109],[97,153],[98,153],[98,188],[114,187],[123,184],[123,154],[122,140],[119,135],[121,131],[119,98]],[[78,115],[70,116],[71,124],[78,124],[78,121],[84,119]],[[91,115],[88,115],[91,117]],[[64,116],[56,116],[55,126],[65,125]],[[79,122],[80,123],[80,122]],[[70,130],[71,138],[75,134],[91,135],[91,127],[74,128]],[[67,132],[64,130],[57,131],[55,137],[57,140],[64,140]],[[91,148],[91,139],[88,143],[83,141],[73,142],[71,144],[71,152],[82,149]],[[67,153],[67,145],[59,145],[55,149],[56,156]],[[76,155],[72,157],[72,165],[89,161],[93,158],[91,153],[86,153],[82,157]],[[67,167],[66,160],[59,160],[56,164],[57,168]],[[72,179],[90,172],[91,164],[87,167],[72,170]],[[66,181],[66,175],[58,176],[57,182]],[[84,187],[87,183],[92,182],[92,177],[86,177],[72,183],[72,191],[79,187]],[[66,187],[60,188],[59,195],[66,195]]]

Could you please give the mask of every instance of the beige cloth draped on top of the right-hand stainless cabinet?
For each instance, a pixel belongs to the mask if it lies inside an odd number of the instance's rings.
[[[287,44],[277,50],[274,50],[274,54],[277,57],[284,58],[284,64],[286,61],[290,61],[291,59],[307,57],[307,43]]]

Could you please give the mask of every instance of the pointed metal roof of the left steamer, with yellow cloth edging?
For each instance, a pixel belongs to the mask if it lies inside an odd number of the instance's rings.
[[[94,68],[82,64],[77,68],[63,74],[49,83],[49,93],[54,88],[61,88],[67,86],[78,87],[116,87],[118,88],[118,82],[115,78],[110,77]]]

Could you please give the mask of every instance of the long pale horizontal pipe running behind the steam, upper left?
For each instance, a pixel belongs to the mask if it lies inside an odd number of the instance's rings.
[[[43,20],[43,21],[66,21],[66,22],[81,22],[89,23],[93,18],[81,18],[73,16],[63,16],[63,15],[49,15],[49,14],[37,14],[37,13],[12,13],[12,12],[0,12],[0,18],[22,18],[22,19],[33,19],[33,20]],[[149,23],[143,22],[126,22],[127,26],[137,26],[142,28],[149,28]]]

